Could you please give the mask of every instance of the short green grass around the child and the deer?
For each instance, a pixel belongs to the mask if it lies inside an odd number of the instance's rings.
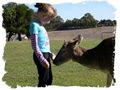
[[[100,41],[83,41],[82,46],[92,48]],[[51,51],[57,54],[63,41],[51,41]],[[7,42],[4,52],[7,73],[3,81],[12,88],[17,85],[37,86],[37,69],[32,60],[30,41]],[[52,63],[52,62],[51,62]],[[69,61],[60,66],[52,64],[53,85],[58,86],[105,86],[106,74],[101,71],[84,67],[76,62]]]

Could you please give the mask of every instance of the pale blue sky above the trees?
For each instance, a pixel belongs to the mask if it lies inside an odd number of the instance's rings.
[[[26,4],[34,11],[37,8],[34,4]],[[64,21],[67,19],[72,20],[74,18],[80,19],[85,13],[91,13],[96,20],[111,19],[114,20],[116,9],[105,1],[86,1],[82,3],[63,3],[63,4],[52,4],[57,10],[57,14],[63,18]]]

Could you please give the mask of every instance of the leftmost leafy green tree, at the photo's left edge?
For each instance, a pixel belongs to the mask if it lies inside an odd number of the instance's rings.
[[[15,26],[16,26],[16,3],[8,3],[6,5],[3,5],[3,27],[6,29],[7,32],[9,32],[8,41],[10,40],[10,37],[13,35],[13,32],[15,32]]]

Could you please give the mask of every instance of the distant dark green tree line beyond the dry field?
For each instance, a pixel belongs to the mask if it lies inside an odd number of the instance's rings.
[[[81,29],[81,28],[95,28],[101,26],[115,26],[116,21],[113,20],[96,20],[90,13],[86,13],[81,19],[74,18],[73,20],[66,20],[57,16],[50,24],[45,25],[47,30],[65,30],[65,29]]]

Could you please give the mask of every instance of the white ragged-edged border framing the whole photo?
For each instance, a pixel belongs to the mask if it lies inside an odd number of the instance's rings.
[[[2,77],[4,76],[5,72],[5,61],[3,60],[3,56],[4,56],[4,47],[6,44],[6,30],[4,28],[2,28],[2,5],[6,4],[7,2],[16,2],[16,3],[28,3],[28,4],[32,4],[32,3],[36,3],[36,2],[45,2],[45,3],[51,3],[51,4],[60,4],[60,3],[78,3],[78,2],[85,2],[85,1],[106,1],[109,4],[111,4],[115,9],[116,12],[115,13],[115,20],[117,20],[117,27],[116,27],[116,42],[115,42],[115,79],[116,79],[116,83],[115,86],[112,86],[110,88],[95,88],[95,87],[80,87],[80,86],[69,86],[69,87],[63,87],[63,86],[49,86],[46,88],[37,88],[37,87],[21,87],[18,86],[16,88],[16,90],[38,90],[38,89],[49,89],[49,90],[56,90],[56,89],[77,89],[77,90],[115,90],[120,88],[120,72],[119,72],[119,68],[120,68],[120,0],[0,0],[0,14],[1,14],[1,18],[0,18],[0,90],[11,90],[13,88],[9,87],[5,82],[2,81]]]

